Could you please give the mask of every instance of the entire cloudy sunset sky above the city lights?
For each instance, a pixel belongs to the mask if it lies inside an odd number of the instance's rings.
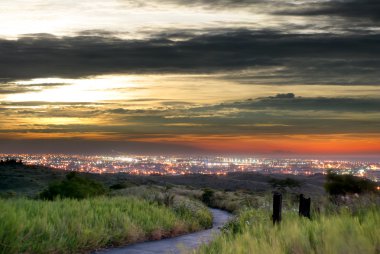
[[[0,152],[380,156],[378,0],[2,0]]]

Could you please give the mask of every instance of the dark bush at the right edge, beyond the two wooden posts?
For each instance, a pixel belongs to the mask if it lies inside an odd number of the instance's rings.
[[[325,189],[330,195],[368,193],[376,190],[376,183],[353,175],[337,175],[328,172]]]

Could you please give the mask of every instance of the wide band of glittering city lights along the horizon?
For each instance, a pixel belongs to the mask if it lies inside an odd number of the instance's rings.
[[[233,172],[313,175],[333,170],[380,182],[380,163],[312,159],[272,159],[247,157],[176,156],[82,156],[56,154],[0,154],[0,160],[14,158],[27,165],[41,165],[67,171],[128,173],[133,175],[225,175]]]

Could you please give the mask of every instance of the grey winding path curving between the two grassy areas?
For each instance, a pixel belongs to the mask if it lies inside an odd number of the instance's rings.
[[[96,254],[156,254],[156,253],[183,253],[193,250],[202,243],[210,242],[214,235],[220,231],[230,218],[231,214],[219,209],[210,209],[213,214],[213,226],[211,229],[191,233],[174,238],[168,238],[152,242],[136,243],[126,247],[106,249]]]

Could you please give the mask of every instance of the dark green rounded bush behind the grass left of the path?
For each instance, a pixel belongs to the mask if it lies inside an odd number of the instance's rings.
[[[66,175],[66,179],[50,184],[40,194],[41,199],[54,200],[57,197],[83,199],[103,195],[106,188],[99,182],[84,178],[76,172]]]

